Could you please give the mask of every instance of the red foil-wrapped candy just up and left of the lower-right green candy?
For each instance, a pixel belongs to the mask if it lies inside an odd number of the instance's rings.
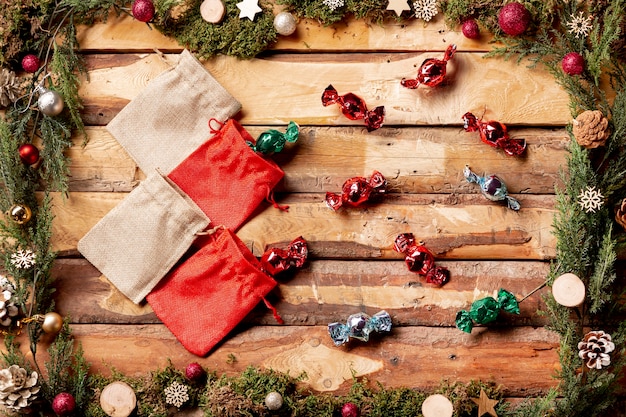
[[[429,284],[444,285],[450,280],[450,271],[435,265],[435,256],[423,242],[415,242],[413,233],[402,233],[396,237],[393,249],[403,253],[409,271],[424,275]]]

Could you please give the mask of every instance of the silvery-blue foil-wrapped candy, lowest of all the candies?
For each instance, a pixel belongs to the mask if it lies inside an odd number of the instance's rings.
[[[386,311],[379,311],[373,316],[365,313],[352,314],[348,317],[346,324],[331,323],[328,325],[328,333],[335,343],[341,346],[347,343],[350,338],[367,342],[372,332],[390,332],[391,317]]]

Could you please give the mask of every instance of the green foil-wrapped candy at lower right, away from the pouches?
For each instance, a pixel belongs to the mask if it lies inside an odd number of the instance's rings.
[[[500,288],[498,299],[485,297],[472,303],[470,310],[461,310],[456,314],[456,327],[465,333],[471,333],[474,324],[487,324],[498,318],[500,311],[519,314],[519,302],[513,293]]]

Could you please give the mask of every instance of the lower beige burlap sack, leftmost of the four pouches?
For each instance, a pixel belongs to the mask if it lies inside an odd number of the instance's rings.
[[[78,242],[78,250],[140,303],[208,225],[189,197],[154,172]]]

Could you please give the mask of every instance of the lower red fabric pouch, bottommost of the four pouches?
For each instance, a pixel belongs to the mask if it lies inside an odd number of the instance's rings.
[[[260,301],[273,310],[265,296],[276,285],[231,230],[218,228],[146,299],[189,352],[204,356]]]

